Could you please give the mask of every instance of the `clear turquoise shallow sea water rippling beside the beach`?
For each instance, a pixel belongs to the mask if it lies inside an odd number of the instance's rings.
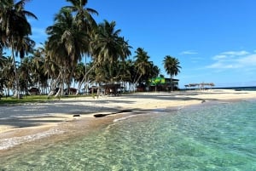
[[[206,103],[207,104],[207,103]],[[152,111],[44,148],[0,170],[256,170],[256,101]]]

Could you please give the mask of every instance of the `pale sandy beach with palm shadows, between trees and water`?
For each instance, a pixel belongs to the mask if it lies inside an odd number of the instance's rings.
[[[76,127],[96,128],[125,113],[108,117],[93,117],[121,110],[147,111],[186,105],[199,105],[215,100],[256,99],[256,91],[215,89],[173,93],[137,93],[117,97],[78,97],[48,103],[0,106],[0,151],[16,145],[65,134]],[[79,115],[80,117],[73,117]],[[80,123],[79,123],[80,122]],[[78,124],[80,124],[78,126]]]

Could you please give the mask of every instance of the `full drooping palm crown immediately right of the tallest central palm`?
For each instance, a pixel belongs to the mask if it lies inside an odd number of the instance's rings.
[[[124,61],[131,54],[129,45],[124,37],[119,37],[121,30],[115,30],[115,22],[104,20],[99,25],[93,44],[93,60],[96,65],[102,66],[108,72],[108,81],[113,83],[117,77],[119,61]],[[105,74],[105,76],[107,76]]]

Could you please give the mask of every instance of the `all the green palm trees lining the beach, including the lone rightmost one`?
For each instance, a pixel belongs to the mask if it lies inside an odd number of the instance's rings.
[[[79,90],[91,83],[122,83],[135,89],[160,74],[143,48],[137,48],[134,59],[129,58],[131,46],[119,35],[115,22],[97,24],[92,15],[98,13],[85,8],[87,0],[66,1],[71,5],[55,14],[54,24],[46,28],[48,38],[38,48],[30,38],[32,27],[26,18],[37,17],[25,10],[26,0],[1,1],[0,92],[11,90],[20,98],[20,91],[27,94],[28,88],[38,87],[44,94],[51,95],[58,88],[56,95],[64,95],[64,88],[72,83]],[[5,49],[11,54],[4,53]],[[167,55],[163,62],[167,73],[176,76],[178,60]]]

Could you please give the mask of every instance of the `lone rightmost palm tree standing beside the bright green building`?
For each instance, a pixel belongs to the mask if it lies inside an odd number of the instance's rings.
[[[177,76],[180,72],[181,66],[179,66],[179,61],[176,58],[173,58],[170,55],[166,55],[165,59],[163,60],[164,68],[166,69],[167,74],[170,75],[171,79],[171,88],[173,91],[173,76]]]

